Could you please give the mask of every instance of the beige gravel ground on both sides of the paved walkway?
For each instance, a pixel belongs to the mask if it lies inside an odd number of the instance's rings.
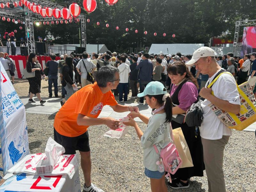
[[[26,96],[28,83],[16,81],[19,96]],[[48,82],[42,81],[42,97],[48,96]],[[44,152],[46,142],[53,138],[53,115],[26,114],[30,153]],[[144,131],[146,124],[138,123]],[[98,136],[107,126],[91,126],[89,130],[92,156],[92,182],[106,192],[149,192],[150,182],[144,174],[143,150],[133,128],[121,139]],[[224,153],[224,174],[227,191],[256,192],[256,145],[254,132],[234,131]],[[1,159],[0,159],[1,160]],[[2,163],[2,161],[0,161]],[[2,166],[2,164],[0,164]],[[84,183],[79,166],[80,180]],[[193,177],[190,188],[168,191],[208,191],[207,177]]]

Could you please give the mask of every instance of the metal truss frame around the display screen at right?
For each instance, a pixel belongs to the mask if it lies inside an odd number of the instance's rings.
[[[236,21],[235,36],[234,36],[234,43],[233,43],[233,53],[236,54],[237,47],[242,46],[242,43],[238,43],[240,27],[254,26],[254,25],[256,25],[256,20]]]

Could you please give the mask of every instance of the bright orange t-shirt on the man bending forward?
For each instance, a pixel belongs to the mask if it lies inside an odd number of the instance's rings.
[[[97,118],[104,105],[116,104],[111,91],[103,94],[97,83],[87,85],[75,92],[60,108],[54,119],[54,128],[61,135],[77,137],[89,127],[77,124],[78,114]]]

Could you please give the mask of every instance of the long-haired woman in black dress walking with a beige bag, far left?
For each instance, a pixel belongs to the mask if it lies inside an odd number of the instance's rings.
[[[44,75],[44,72],[40,66],[40,64],[37,61],[36,54],[35,53],[30,53],[28,56],[28,62],[26,65],[26,69],[29,73],[35,71],[35,76],[27,78],[28,83],[29,83],[29,92],[30,96],[28,99],[29,103],[35,103],[32,98],[34,94],[36,94],[37,98],[40,101],[40,104],[43,105],[46,101],[41,99],[40,93],[41,93],[41,75]]]

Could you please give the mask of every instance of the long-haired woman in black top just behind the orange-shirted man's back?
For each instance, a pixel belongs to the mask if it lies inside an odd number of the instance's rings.
[[[60,101],[61,106],[75,92],[73,87],[76,87],[73,58],[72,57],[66,57],[65,61],[66,61],[66,64],[62,68],[63,78],[62,78],[62,82],[61,83],[62,83],[62,86],[67,91],[67,94],[66,94],[65,98],[62,101]]]

